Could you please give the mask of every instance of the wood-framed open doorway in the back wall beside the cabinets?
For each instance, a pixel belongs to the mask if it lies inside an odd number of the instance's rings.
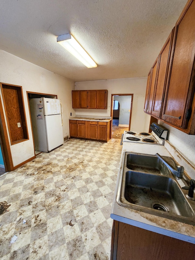
[[[121,139],[124,131],[130,130],[133,94],[111,96],[111,138]]]

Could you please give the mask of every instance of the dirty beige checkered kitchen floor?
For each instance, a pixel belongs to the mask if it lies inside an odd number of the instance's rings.
[[[119,143],[70,139],[1,176],[0,259],[109,259]]]

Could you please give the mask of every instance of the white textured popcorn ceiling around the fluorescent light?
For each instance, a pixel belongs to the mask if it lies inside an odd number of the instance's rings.
[[[187,0],[1,0],[0,49],[74,81],[145,77]],[[56,41],[71,33],[98,64]]]

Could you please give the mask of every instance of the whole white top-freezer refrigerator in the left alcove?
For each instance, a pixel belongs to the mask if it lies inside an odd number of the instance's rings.
[[[30,115],[36,151],[50,152],[64,142],[62,103],[55,98],[30,98]]]

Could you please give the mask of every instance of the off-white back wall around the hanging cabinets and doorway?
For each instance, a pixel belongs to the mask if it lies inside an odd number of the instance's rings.
[[[147,77],[76,82],[75,90],[108,90],[108,109],[76,109],[76,115],[110,116],[111,94],[133,94],[130,130],[148,132],[150,116],[144,113],[146,84]]]

